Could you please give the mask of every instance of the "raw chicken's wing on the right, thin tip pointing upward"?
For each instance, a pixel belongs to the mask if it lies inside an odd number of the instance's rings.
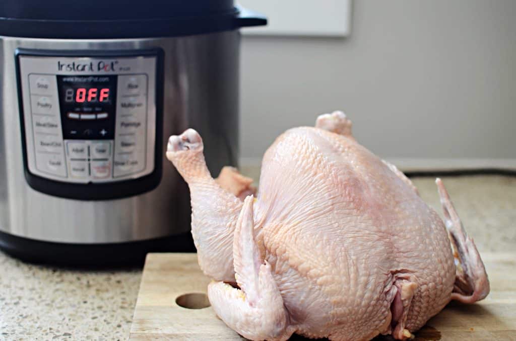
[[[451,299],[463,303],[474,303],[489,294],[489,279],[477,247],[470,238],[462,223],[448,191],[441,179],[436,179],[439,196],[444,213],[444,222],[453,249],[456,266],[456,277]]]

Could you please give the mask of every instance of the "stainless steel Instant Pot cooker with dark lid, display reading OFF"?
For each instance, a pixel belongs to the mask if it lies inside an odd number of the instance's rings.
[[[4,0],[0,247],[76,264],[195,250],[167,139],[195,128],[213,175],[235,165],[238,29],[265,24],[232,0]]]

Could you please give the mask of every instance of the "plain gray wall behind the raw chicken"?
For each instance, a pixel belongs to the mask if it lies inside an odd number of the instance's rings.
[[[382,157],[516,158],[516,1],[353,2],[349,38],[243,36],[240,141],[342,109]]]

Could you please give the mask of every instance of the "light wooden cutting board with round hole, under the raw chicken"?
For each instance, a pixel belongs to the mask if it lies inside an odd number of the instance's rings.
[[[476,304],[452,302],[416,333],[416,340],[516,340],[516,253],[482,253],[491,293]],[[209,279],[195,253],[149,253],[130,340],[241,340],[218,319],[204,295]],[[293,337],[292,339],[303,339]],[[378,337],[387,340],[390,337]]]

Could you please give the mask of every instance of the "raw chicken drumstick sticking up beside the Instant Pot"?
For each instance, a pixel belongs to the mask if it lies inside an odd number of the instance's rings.
[[[234,282],[233,231],[241,200],[222,189],[209,174],[197,131],[187,129],[171,136],[167,158],[190,187],[191,232],[201,269],[215,280]]]

